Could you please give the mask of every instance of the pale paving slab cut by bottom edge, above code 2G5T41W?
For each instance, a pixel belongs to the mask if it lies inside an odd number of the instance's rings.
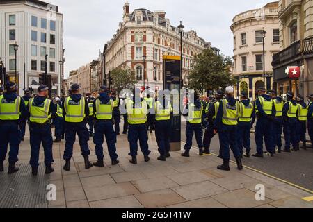
[[[225,205],[218,203],[218,201],[207,197],[198,200],[191,200],[176,205],[170,205],[168,208],[227,208]]]

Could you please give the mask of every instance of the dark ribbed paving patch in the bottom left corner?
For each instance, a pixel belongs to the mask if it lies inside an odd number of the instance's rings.
[[[46,187],[49,176],[40,164],[38,176],[31,175],[29,164],[19,164],[13,175],[0,173],[0,208],[47,208]]]

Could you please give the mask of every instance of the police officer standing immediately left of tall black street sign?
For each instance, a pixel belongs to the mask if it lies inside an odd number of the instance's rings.
[[[159,92],[158,100],[154,105],[155,110],[155,137],[159,147],[160,156],[158,160],[166,161],[170,157],[170,132],[171,121],[170,115],[172,112],[172,105],[168,95]]]

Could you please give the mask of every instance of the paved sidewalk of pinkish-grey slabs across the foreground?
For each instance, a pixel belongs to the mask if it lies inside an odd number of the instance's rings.
[[[172,157],[167,162],[159,162],[154,134],[150,134],[152,153],[148,163],[144,162],[140,153],[138,165],[130,164],[127,136],[120,135],[117,144],[120,164],[111,166],[105,145],[106,167],[86,170],[77,139],[72,171],[65,172],[62,169],[64,142],[61,142],[54,144],[56,171],[51,176],[45,176],[42,170],[38,178],[33,178],[28,165],[29,136],[25,138],[19,152],[19,166],[28,170],[20,171],[15,176],[0,173],[0,180],[7,181],[1,184],[1,187],[6,186],[3,189],[6,192],[0,193],[0,207],[313,207],[313,202],[301,199],[313,194],[250,169],[238,171],[235,164],[231,165],[230,172],[218,171],[216,166],[221,162],[218,157],[200,157],[195,149],[191,151],[190,158],[180,157],[177,151],[171,153]],[[89,144],[92,152],[90,161],[95,161],[95,146],[92,141]],[[40,161],[43,162],[42,149]],[[8,195],[10,192],[14,194],[19,184],[17,179],[21,177],[24,178],[23,187],[26,189],[19,192],[24,196],[17,198]],[[47,184],[56,185],[56,201],[48,203],[45,200]],[[255,186],[259,184],[266,188],[264,201],[255,200]],[[41,194],[40,198],[31,198],[35,194]],[[27,200],[26,197],[33,201],[31,205],[22,204]],[[8,201],[10,198],[14,201]]]

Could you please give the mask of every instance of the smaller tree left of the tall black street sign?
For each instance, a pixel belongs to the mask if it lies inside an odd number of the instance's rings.
[[[137,81],[134,71],[129,67],[116,68],[111,71],[113,87],[120,92],[122,89],[134,89]]]

